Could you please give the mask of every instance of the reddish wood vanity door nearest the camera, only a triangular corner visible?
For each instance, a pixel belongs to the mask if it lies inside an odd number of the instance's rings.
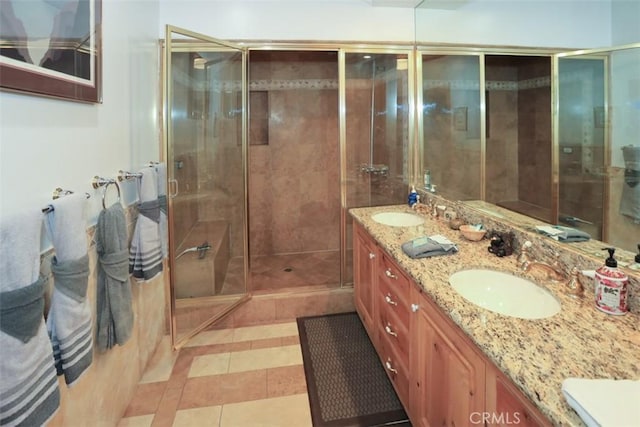
[[[488,365],[485,425],[551,426],[533,403],[498,368],[492,364]]]

